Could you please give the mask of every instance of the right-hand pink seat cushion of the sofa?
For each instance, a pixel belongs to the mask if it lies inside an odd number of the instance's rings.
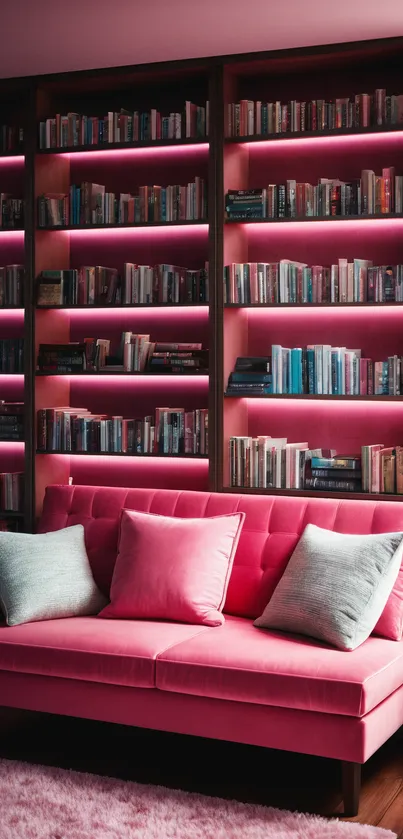
[[[360,717],[403,684],[402,641],[347,653],[229,615],[211,631],[158,655],[157,688]]]

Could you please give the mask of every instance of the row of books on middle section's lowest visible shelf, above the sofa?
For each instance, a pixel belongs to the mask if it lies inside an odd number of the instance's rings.
[[[126,419],[62,407],[42,409],[37,419],[41,452],[208,454],[207,408],[156,408],[155,416]]]

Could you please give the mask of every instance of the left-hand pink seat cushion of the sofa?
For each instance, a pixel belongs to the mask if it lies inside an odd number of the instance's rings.
[[[154,688],[158,653],[206,631],[200,626],[96,617],[2,625],[0,670]]]

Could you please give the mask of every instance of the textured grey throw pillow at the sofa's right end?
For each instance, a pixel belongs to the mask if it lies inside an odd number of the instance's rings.
[[[255,626],[354,650],[378,622],[399,573],[403,533],[352,536],[308,524]]]

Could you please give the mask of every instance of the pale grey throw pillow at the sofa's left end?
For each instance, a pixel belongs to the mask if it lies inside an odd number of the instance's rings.
[[[106,602],[81,524],[54,533],[0,532],[0,608],[9,626],[94,615]]]

